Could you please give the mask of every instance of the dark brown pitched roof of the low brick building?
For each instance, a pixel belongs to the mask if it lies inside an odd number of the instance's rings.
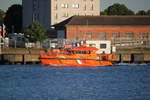
[[[150,25],[150,16],[73,16],[54,26],[67,25]]]

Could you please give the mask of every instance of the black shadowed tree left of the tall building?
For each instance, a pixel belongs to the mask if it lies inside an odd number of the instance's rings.
[[[12,5],[4,18],[7,33],[20,33],[22,30],[22,6]]]

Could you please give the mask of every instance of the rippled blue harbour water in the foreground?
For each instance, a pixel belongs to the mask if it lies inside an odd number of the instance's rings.
[[[0,65],[0,100],[150,100],[150,66]]]

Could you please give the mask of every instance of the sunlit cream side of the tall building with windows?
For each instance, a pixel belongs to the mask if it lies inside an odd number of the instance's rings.
[[[71,16],[99,16],[100,0],[51,0],[51,24]]]

